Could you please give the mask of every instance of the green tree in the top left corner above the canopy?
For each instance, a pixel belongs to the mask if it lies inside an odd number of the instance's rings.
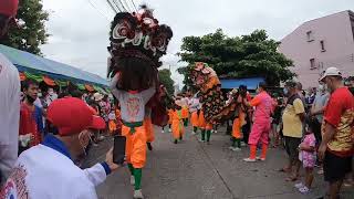
[[[1,44],[12,46],[33,54],[42,55],[40,45],[46,43],[49,34],[44,22],[49,13],[43,10],[42,0],[20,0],[17,18],[21,28],[11,28],[8,36]]]

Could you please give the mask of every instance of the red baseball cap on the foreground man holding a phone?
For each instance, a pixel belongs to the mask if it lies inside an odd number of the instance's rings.
[[[104,121],[95,117],[90,107],[76,97],[55,100],[48,107],[48,121],[58,128],[61,136],[80,134],[87,128],[102,129]]]

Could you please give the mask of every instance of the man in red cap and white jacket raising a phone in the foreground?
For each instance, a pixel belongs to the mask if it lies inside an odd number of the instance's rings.
[[[95,187],[118,168],[112,149],[104,163],[85,170],[73,160],[84,154],[91,129],[105,126],[103,118],[93,115],[82,100],[65,97],[48,107],[48,121],[58,134],[20,155],[0,198],[96,199]]]

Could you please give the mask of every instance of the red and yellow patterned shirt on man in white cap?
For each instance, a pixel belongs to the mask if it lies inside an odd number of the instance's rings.
[[[339,156],[351,156],[353,147],[354,97],[347,87],[335,90],[330,96],[324,113],[324,122],[335,128],[335,135],[329,142],[330,151]]]

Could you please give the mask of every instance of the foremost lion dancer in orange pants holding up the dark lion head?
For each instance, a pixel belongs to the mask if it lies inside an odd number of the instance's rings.
[[[154,94],[159,94],[156,93],[159,91],[157,67],[162,65],[159,59],[166,54],[171,36],[170,28],[158,24],[146,6],[136,13],[117,13],[111,25],[108,77],[113,77],[111,90],[121,105],[122,135],[126,137],[126,161],[134,198],[144,198],[142,169],[146,164],[146,145],[153,140],[146,133],[144,118],[149,117],[149,109],[146,109],[149,100],[154,101]]]

